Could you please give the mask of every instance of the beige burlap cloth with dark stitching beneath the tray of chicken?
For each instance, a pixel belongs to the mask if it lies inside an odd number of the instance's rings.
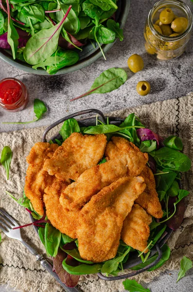
[[[161,136],[179,135],[184,144],[184,153],[193,160],[193,93],[186,97],[157,102],[133,109],[118,110],[109,115],[126,117],[135,112],[141,121]],[[0,133],[0,151],[9,145],[13,150],[10,180],[6,180],[5,171],[0,166],[0,207],[3,207],[20,224],[30,222],[28,213],[13,201],[5,191],[17,198],[22,196],[28,155],[35,142],[41,141],[44,127],[22,129],[15,132]],[[193,173],[190,170],[183,175],[182,185],[191,194],[186,198],[186,212],[181,227],[168,240],[172,250],[171,257],[160,269],[136,276],[136,280],[151,281],[161,271],[179,267],[182,256],[193,259]],[[22,229],[22,236],[39,253],[45,253],[32,226]],[[0,243],[0,283],[9,283],[22,292],[62,292],[61,287],[42,266],[35,261],[27,249],[17,240],[2,234]],[[78,288],[83,292],[117,292],[123,290],[122,281],[105,282],[97,275],[81,276]]]

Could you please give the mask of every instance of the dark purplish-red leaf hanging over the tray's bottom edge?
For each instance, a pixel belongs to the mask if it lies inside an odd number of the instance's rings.
[[[67,254],[58,248],[57,255],[53,257],[53,271],[58,275],[62,283],[72,288],[77,285],[80,276],[69,274],[63,269],[62,262],[66,257]]]

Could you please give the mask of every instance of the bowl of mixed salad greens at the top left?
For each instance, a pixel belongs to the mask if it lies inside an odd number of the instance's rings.
[[[29,73],[82,69],[112,47],[130,0],[0,0],[0,58]]]

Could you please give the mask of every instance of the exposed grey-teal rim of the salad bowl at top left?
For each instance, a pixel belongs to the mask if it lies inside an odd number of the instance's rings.
[[[117,5],[119,8],[116,13],[116,21],[119,22],[120,27],[123,28],[125,25],[128,13],[129,13],[130,0],[118,0]],[[109,51],[114,43],[115,42],[111,44],[107,44],[107,45],[102,45],[104,53]],[[86,46],[83,47],[83,51],[80,53],[80,60],[76,64],[70,67],[65,67],[63,69],[60,69],[55,75],[66,74],[66,73],[70,73],[70,72],[82,69],[90,65],[91,63],[95,62],[101,56],[102,56],[102,53],[98,46],[96,46],[96,48],[94,49],[91,44],[87,44]],[[49,75],[43,69],[38,68],[37,70],[35,70],[31,67],[31,65],[27,63],[24,63],[19,60],[14,60],[8,50],[0,49],[0,59],[28,73],[38,74],[38,75]]]

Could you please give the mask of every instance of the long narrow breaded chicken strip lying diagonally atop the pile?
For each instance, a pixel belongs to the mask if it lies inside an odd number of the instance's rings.
[[[142,153],[139,148],[131,146],[129,153],[121,153],[120,156],[117,155],[113,159],[91,167],[82,173],[78,180],[71,183],[61,194],[60,203],[70,210],[81,208],[105,186],[126,175],[139,175],[147,160],[147,153]]]

